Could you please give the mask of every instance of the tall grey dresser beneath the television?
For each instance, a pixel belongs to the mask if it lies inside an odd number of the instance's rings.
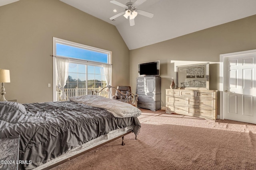
[[[152,111],[161,109],[160,76],[138,77],[136,93],[138,94],[138,108],[146,108]]]

